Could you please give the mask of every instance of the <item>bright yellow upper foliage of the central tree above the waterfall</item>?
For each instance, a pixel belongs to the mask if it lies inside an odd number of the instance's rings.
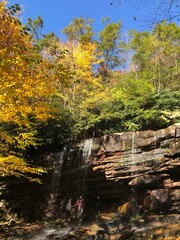
[[[94,42],[82,44],[75,41],[59,41],[56,42],[56,50],[57,54],[53,58],[56,65],[56,95],[63,99],[64,106],[68,106],[71,113],[78,117],[79,109],[87,106],[90,98],[101,98],[100,93],[104,92],[101,77],[95,74],[95,66],[102,61],[101,54]],[[46,51],[47,56],[51,47]],[[63,76],[63,81],[62,68],[58,66],[66,66],[69,72]]]

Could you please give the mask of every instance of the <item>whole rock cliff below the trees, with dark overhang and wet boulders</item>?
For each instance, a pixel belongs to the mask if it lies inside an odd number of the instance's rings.
[[[88,231],[78,228],[74,239],[176,239],[179,160],[180,124],[86,139],[41,156],[39,165],[48,170],[44,183],[8,185],[6,200],[27,221],[52,222],[66,219],[69,198],[74,204],[82,195],[83,221],[91,224]]]

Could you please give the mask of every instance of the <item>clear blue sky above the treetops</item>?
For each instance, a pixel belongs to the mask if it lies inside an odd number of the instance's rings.
[[[103,29],[101,19],[107,16],[111,21],[121,20],[124,33],[130,29],[148,30],[149,24],[142,19],[154,10],[153,0],[147,1],[149,3],[143,6],[135,4],[136,1],[123,1],[121,5],[117,0],[113,5],[110,5],[111,2],[112,0],[9,0],[10,4],[18,3],[23,6],[23,23],[28,17],[36,19],[41,16],[45,26],[43,33],[55,32],[59,37],[62,29],[68,26],[73,18],[81,16],[94,19],[96,33]]]

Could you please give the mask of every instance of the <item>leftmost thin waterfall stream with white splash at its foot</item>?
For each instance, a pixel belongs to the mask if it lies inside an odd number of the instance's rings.
[[[87,144],[88,145],[88,144]],[[87,145],[85,149],[87,149]],[[85,150],[86,152],[86,150]],[[90,151],[88,151],[90,154]],[[58,220],[62,220],[58,216],[58,211],[61,208],[58,204],[58,200],[62,200],[61,196],[59,195],[60,190],[60,182],[61,182],[61,171],[63,167],[63,163],[65,161],[65,153],[66,149],[62,152],[51,154],[51,161],[52,164],[52,179],[51,179],[51,186],[50,186],[50,195],[47,203],[47,208],[45,210],[45,226],[39,233],[28,237],[31,240],[45,240],[45,239],[61,239],[63,236],[68,235],[69,232],[72,230],[76,230],[79,225],[68,225],[58,222]],[[86,159],[89,158],[88,155],[84,153],[84,157]],[[69,162],[68,166],[70,166],[70,158],[66,158]],[[58,209],[57,209],[58,208]],[[59,224],[59,225],[58,225]],[[61,225],[62,224],[62,225]],[[20,239],[19,239],[20,240]]]

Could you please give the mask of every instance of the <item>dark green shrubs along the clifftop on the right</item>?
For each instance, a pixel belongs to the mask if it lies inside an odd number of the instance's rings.
[[[108,115],[99,123],[103,133],[157,130],[180,121],[180,94],[173,90],[152,92],[146,101],[131,100],[124,105],[123,101],[113,102],[106,108]]]

